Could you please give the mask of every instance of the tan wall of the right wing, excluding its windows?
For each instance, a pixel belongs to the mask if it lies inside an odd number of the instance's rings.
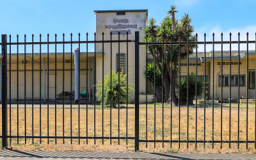
[[[226,55],[227,56],[227,55]],[[232,62],[237,62],[238,60],[232,60]],[[206,72],[208,81],[209,81],[209,92],[210,98],[212,99],[212,88],[214,87],[214,99],[221,98],[221,86],[218,85],[219,79],[218,77],[221,75],[221,65],[218,65],[221,60],[214,61],[214,73],[212,74],[212,61],[208,61],[206,63]],[[229,62],[229,60],[223,60],[224,62]],[[246,96],[246,81],[247,81],[247,74],[246,74],[246,56],[240,60],[240,76],[245,76],[245,85],[240,86],[240,93],[239,97]],[[187,63],[186,61],[182,61],[182,63]],[[191,61],[189,63],[195,63],[195,61]],[[200,63],[198,61],[198,63]],[[198,66],[198,76],[204,76],[204,63],[200,63],[201,65]],[[189,73],[195,73],[195,66],[189,66]],[[229,75],[229,65],[223,65],[223,75]],[[249,56],[248,61],[248,70],[255,70],[255,56]],[[180,70],[181,76],[187,76],[187,66],[182,66]],[[238,65],[231,65],[231,75],[238,75]],[[214,83],[212,83],[212,77],[214,77]],[[237,99],[238,97],[238,87],[231,86],[231,98]],[[223,86],[223,99],[229,98],[229,86]],[[255,99],[255,90],[248,90],[248,99]]]

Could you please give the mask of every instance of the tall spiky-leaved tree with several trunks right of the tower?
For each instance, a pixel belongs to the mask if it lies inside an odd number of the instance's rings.
[[[168,15],[162,20],[159,26],[156,25],[156,20],[151,18],[147,26],[145,26],[145,37],[144,42],[195,42],[196,36],[193,35],[194,28],[191,26],[191,18],[188,14],[184,14],[180,20],[175,19],[175,13],[177,13],[176,6],[172,5],[171,10],[168,11]],[[172,85],[172,100],[175,104],[178,104],[179,100],[175,94],[175,84],[176,79],[179,74],[179,56],[180,59],[187,58],[187,53],[193,53],[195,45],[182,44],[180,45],[180,54],[179,54],[179,45],[156,45],[156,52],[154,45],[148,45],[147,51],[156,58],[156,68],[159,69],[159,72],[162,71],[163,66],[163,90],[164,90],[164,102],[170,99],[170,85]],[[162,64],[162,49],[164,49],[164,61]],[[171,52],[172,51],[172,52]],[[172,68],[171,68],[171,59],[172,59]],[[152,67],[152,66],[151,66]],[[148,65],[147,65],[148,68]],[[172,75],[171,75],[172,71]],[[149,72],[149,71],[148,71]],[[148,73],[147,72],[147,73]],[[154,72],[153,72],[154,74]],[[154,77],[154,75],[153,75]],[[160,77],[161,79],[161,77]],[[172,84],[171,84],[172,79]],[[151,83],[154,83],[154,78],[148,79]],[[156,92],[161,93],[161,83],[157,83]],[[159,94],[157,94],[157,100],[159,99]]]

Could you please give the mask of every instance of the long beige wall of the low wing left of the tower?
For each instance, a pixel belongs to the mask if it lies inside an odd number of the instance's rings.
[[[83,56],[81,56],[81,71],[80,71],[80,92],[83,92],[86,90],[86,61]],[[9,57],[8,57],[9,58]],[[12,97],[11,99],[16,100],[17,99],[17,61],[15,61],[17,57],[12,56],[12,70],[11,70],[11,83],[12,83]],[[28,60],[31,60],[30,56],[27,56]],[[52,63],[53,57],[51,56],[49,60],[49,99],[54,99],[54,93],[55,93],[55,63]],[[22,61],[22,57],[19,58],[19,62]],[[36,59],[36,58],[35,58]],[[65,60],[70,59],[70,56],[66,57]],[[72,56],[72,59],[74,60],[74,56]],[[57,72],[56,72],[56,93],[59,94],[63,91],[63,63],[62,63],[62,56],[58,56],[57,58]],[[88,90],[89,87],[92,90],[93,86],[93,59],[89,59],[91,61],[90,63],[90,84],[88,84]],[[40,97],[40,63],[37,63],[38,61],[34,61],[34,99],[39,99]],[[41,70],[41,97],[44,99],[44,61],[42,58],[42,70]],[[70,92],[70,81],[71,81],[71,75],[70,75],[70,68],[71,63],[65,63],[65,72],[64,72],[64,88],[66,92]],[[89,72],[89,71],[88,71]],[[88,76],[89,78],[89,76]],[[24,63],[19,63],[19,99],[24,99]],[[89,81],[88,81],[89,82]],[[10,98],[10,68],[9,68],[9,60],[8,60],[8,99]],[[74,62],[72,63],[72,91],[74,91]],[[91,92],[92,95],[92,92]],[[26,99],[32,98],[32,63],[29,61],[26,63]],[[45,98],[47,99],[47,58],[45,58]]]

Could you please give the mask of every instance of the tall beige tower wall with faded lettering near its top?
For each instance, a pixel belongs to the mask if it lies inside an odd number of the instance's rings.
[[[115,20],[125,19],[127,20],[127,23],[119,23],[114,22]],[[112,40],[118,40],[118,35],[116,33],[118,31],[122,31],[124,29],[112,29],[108,27],[108,25],[118,25],[118,24],[129,24],[129,25],[136,25],[136,28],[128,28],[126,29],[129,31],[129,40],[135,39],[135,31],[140,31],[140,42],[143,41],[144,33],[142,29],[147,24],[147,12],[126,12],[125,15],[116,15],[116,12],[103,12],[103,13],[96,13],[96,31],[97,31],[97,40],[102,40],[102,32],[104,33],[104,40],[110,40],[110,31],[113,32]],[[107,27],[106,27],[107,26]],[[120,40],[126,40],[127,36],[120,35]],[[125,72],[127,72],[128,68],[128,78],[129,83],[134,84],[135,83],[135,68],[134,68],[134,42],[131,42],[128,44],[128,61],[127,64],[127,44],[120,43],[120,53],[125,53]],[[96,51],[102,52],[102,44],[96,45]],[[116,72],[116,54],[118,53],[118,43],[112,44],[112,70]],[[110,60],[111,60],[111,52],[110,52],[110,44],[104,44],[104,75],[108,75],[110,72]],[[145,92],[145,79],[143,77],[143,70],[145,68],[145,47],[143,45],[140,45],[140,92]],[[96,59],[96,80],[101,81],[102,80],[102,57],[99,57]],[[134,85],[132,86],[134,87]],[[134,97],[131,98],[133,100]]]

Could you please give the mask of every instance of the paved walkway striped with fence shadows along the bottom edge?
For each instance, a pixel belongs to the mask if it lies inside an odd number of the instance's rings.
[[[256,159],[252,154],[154,154],[145,152],[52,152],[1,150],[0,159]]]

